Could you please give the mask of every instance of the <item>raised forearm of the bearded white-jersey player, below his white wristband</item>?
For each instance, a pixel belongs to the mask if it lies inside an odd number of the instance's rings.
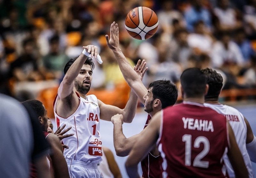
[[[80,56],[75,60],[75,62],[69,67],[67,73],[63,78],[63,82],[72,83],[82,69],[86,59],[87,56],[81,53]]]

